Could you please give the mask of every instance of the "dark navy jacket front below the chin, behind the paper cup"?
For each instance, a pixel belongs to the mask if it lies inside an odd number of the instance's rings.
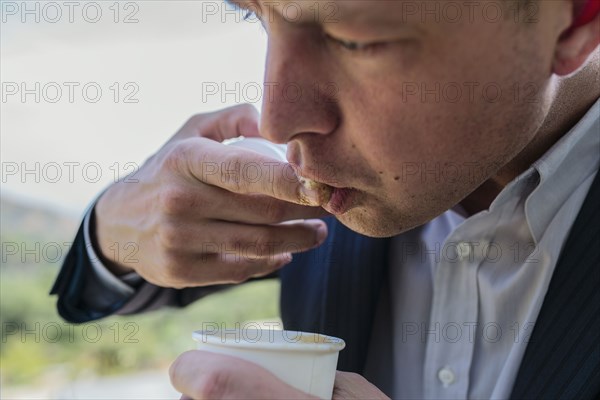
[[[338,369],[362,372],[388,265],[389,239],[372,239],[326,219],[327,241],[280,271],[285,329],[342,338]]]

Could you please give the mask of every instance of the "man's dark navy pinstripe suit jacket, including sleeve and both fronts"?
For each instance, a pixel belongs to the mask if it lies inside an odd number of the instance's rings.
[[[513,398],[600,398],[600,174],[571,229],[527,345]],[[335,220],[320,248],[280,272],[286,329],[341,337],[339,369],[362,372],[378,296],[387,277],[389,239],[358,235]],[[184,306],[220,288],[164,289],[143,283],[127,304],[98,284],[80,229],[52,293],[67,320]],[[86,299],[102,297],[94,309]]]

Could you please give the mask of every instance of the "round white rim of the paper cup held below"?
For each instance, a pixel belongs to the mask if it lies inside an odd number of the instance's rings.
[[[239,331],[239,330],[238,330]],[[196,342],[200,342],[200,343],[206,343],[209,345],[213,345],[213,346],[221,346],[221,347],[234,347],[234,348],[240,348],[240,349],[248,349],[248,350],[268,350],[268,351],[299,351],[299,352],[313,352],[313,353],[332,353],[332,352],[339,352],[340,350],[342,350],[344,347],[346,347],[346,343],[340,339],[340,338],[336,338],[333,336],[328,336],[328,335],[322,335],[322,334],[317,334],[317,333],[310,333],[310,332],[302,332],[302,331],[289,331],[289,330],[285,330],[285,331],[281,331],[281,330],[274,330],[274,329],[245,329],[244,330],[246,333],[251,333],[251,332],[273,332],[274,334],[276,333],[283,333],[282,337],[287,337],[289,338],[289,340],[279,340],[279,341],[271,341],[271,340],[248,340],[248,339],[242,339],[241,337],[239,339],[228,339],[227,336],[225,336],[225,339],[223,339],[221,333],[221,330],[217,330],[217,331],[202,331],[202,330],[198,330],[198,331],[194,331],[192,333],[192,338],[196,341]],[[235,330],[225,330],[226,333],[228,333],[228,335],[230,336],[234,336],[236,331]],[[270,333],[265,333],[265,334],[270,334]],[[301,341],[298,338],[300,337],[307,337],[307,336],[311,336],[311,337],[318,337],[317,342],[314,341]],[[255,336],[251,336],[251,337],[255,337]],[[270,338],[271,336],[269,336]],[[274,338],[275,336],[273,336]],[[261,333],[261,338],[262,338],[262,333]]]

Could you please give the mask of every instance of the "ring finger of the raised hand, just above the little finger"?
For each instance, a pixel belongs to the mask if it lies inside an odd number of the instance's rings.
[[[249,260],[300,253],[321,245],[326,238],[327,225],[321,220],[279,225],[247,225],[226,221],[166,224],[159,231],[160,245],[167,249],[197,254],[235,254]]]

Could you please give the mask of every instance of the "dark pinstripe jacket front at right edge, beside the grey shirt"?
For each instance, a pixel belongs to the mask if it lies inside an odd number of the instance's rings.
[[[599,204],[597,174],[550,281],[512,398],[600,395]]]

